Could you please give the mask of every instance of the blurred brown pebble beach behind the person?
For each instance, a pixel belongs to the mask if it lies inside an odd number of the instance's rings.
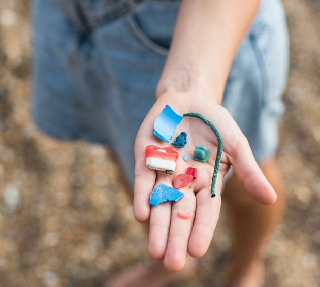
[[[291,69],[278,163],[286,208],[264,253],[265,286],[320,286],[320,1],[284,0]],[[0,0],[0,285],[87,287],[148,261],[147,233],[110,152],[41,135],[30,121],[30,1]],[[197,275],[225,286],[226,206]]]

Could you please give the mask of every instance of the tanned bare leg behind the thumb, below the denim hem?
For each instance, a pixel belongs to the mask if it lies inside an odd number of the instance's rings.
[[[236,176],[227,182],[223,198],[230,205],[234,233],[233,287],[258,287],[263,276],[261,247],[281,217],[283,195],[275,158],[260,165],[278,195],[276,203],[263,206],[245,192]]]

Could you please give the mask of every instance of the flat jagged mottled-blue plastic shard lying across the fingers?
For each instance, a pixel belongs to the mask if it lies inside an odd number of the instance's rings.
[[[165,201],[178,201],[184,197],[184,193],[179,192],[178,189],[159,183],[150,195],[150,204],[157,206]]]

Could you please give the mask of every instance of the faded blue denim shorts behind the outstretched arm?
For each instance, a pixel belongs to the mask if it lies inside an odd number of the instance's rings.
[[[179,1],[34,0],[31,114],[44,133],[109,146],[130,182]],[[280,0],[262,0],[223,95],[258,162],[276,152],[289,39]]]

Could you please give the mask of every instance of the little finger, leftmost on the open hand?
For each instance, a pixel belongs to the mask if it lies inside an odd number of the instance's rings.
[[[150,216],[149,200],[156,173],[146,166],[144,150],[136,149],[135,157],[134,216],[138,222],[145,222]]]

